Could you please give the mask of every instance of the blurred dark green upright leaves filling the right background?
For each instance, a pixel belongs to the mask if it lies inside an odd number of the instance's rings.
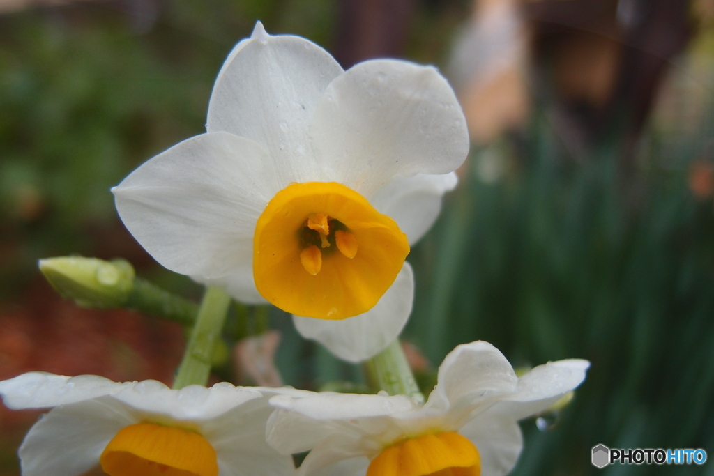
[[[553,431],[524,423],[513,474],[595,474],[589,450],[598,443],[713,448],[711,200],[692,196],[685,168],[663,170],[671,158],[659,148],[647,154],[652,168],[637,177],[633,198],[611,147],[576,162],[544,116],[523,147],[496,149],[473,152],[461,188],[412,256],[418,292],[406,334],[433,362],[477,338],[514,365],[590,360]],[[487,183],[479,161],[493,154],[517,170]],[[603,474],[706,471],[618,465]]]

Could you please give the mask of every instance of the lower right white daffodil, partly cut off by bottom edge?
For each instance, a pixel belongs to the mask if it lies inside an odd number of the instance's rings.
[[[403,395],[313,393],[271,398],[268,442],[311,450],[298,475],[505,475],[523,447],[518,420],[585,378],[587,360],[559,360],[518,378],[493,345],[459,345],[426,404]]]

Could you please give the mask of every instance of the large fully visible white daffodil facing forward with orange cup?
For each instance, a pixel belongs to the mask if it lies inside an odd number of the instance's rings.
[[[343,71],[258,22],[218,74],[206,128],[112,189],[131,234],[177,273],[320,318],[298,330],[341,358],[391,343],[411,312],[404,258],[468,153],[446,80],[406,61]]]

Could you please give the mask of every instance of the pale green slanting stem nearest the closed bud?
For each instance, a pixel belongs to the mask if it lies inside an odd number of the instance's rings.
[[[173,388],[183,388],[187,385],[206,385],[208,374],[211,373],[213,350],[221,337],[221,328],[226,320],[231,296],[221,288],[206,288],[201,308],[198,309],[196,323],[188,338],[186,352],[178,367]]]

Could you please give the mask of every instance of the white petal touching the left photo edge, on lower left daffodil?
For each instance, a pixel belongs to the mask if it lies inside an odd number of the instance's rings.
[[[131,383],[116,383],[98,375],[65,377],[44,372],[29,372],[0,382],[0,395],[13,410],[44,408],[81,402],[116,393]]]

